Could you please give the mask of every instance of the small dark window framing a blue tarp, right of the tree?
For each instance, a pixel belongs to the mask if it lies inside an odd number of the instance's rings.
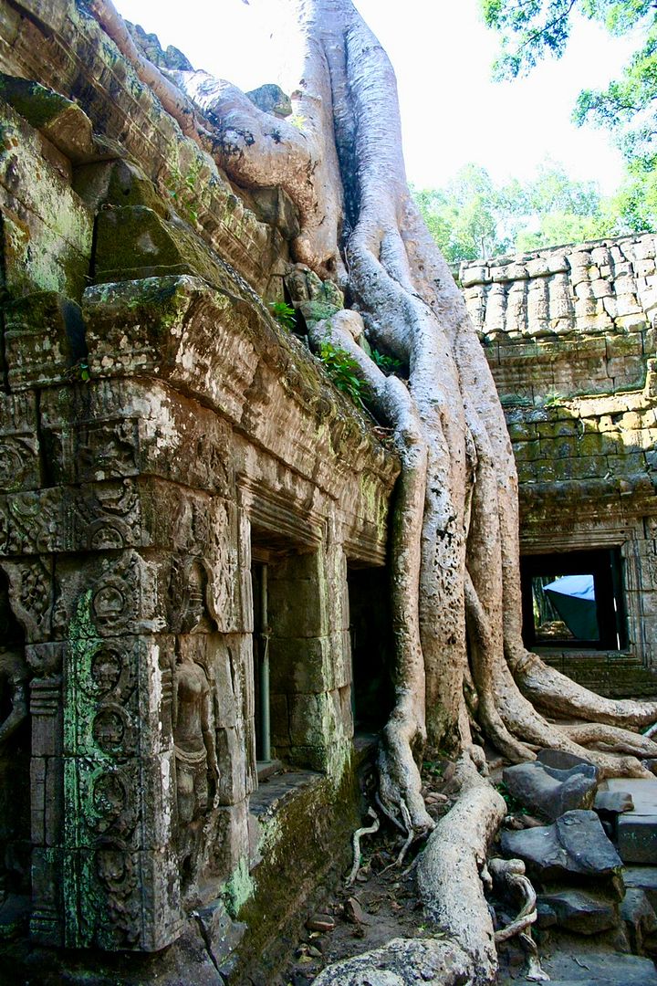
[[[528,649],[627,647],[620,548],[528,555],[520,562]]]

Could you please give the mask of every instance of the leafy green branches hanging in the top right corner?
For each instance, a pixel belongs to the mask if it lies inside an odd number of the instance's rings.
[[[612,35],[631,32],[636,49],[619,79],[577,98],[576,123],[614,135],[626,178],[614,207],[631,232],[657,227],[657,4],[654,0],[480,0],[484,20],[498,33],[497,78],[530,71],[546,54],[565,50],[574,19],[587,18]]]

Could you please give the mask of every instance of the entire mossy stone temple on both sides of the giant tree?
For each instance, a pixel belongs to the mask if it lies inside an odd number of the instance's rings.
[[[0,71],[0,965],[238,980],[349,859],[399,463],[306,345],[341,299],[281,189],[231,185],[82,0],[0,4]],[[527,555],[607,573],[610,692],[657,661],[654,246],[463,272]]]

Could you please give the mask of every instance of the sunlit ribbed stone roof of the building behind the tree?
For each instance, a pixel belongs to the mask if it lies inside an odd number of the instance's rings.
[[[657,315],[652,235],[466,263],[461,283],[502,403],[645,382]]]

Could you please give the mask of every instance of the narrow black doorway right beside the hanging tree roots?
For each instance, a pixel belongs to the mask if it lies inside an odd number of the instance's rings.
[[[375,733],[385,726],[394,705],[389,573],[350,566],[347,581],[354,727],[357,733]]]

